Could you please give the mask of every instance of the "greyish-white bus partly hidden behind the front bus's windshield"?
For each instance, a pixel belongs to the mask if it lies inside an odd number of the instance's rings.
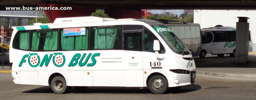
[[[200,55],[201,35],[200,24],[197,23],[180,23],[178,20],[162,20],[168,28],[185,44],[192,53],[193,57]]]

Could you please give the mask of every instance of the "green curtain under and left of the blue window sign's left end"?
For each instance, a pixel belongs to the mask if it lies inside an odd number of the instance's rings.
[[[74,50],[74,36],[63,36],[61,31],[61,48],[62,50],[73,51]]]

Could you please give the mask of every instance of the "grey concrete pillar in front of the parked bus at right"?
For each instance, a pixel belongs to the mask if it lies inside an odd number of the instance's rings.
[[[249,23],[247,17],[238,17],[236,29],[236,63],[246,63],[248,61],[248,41],[249,41]]]

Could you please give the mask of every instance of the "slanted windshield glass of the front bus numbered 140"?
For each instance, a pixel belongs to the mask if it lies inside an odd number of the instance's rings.
[[[159,33],[163,40],[166,41],[168,46],[177,54],[189,55],[187,48],[182,44],[179,38],[171,32]]]

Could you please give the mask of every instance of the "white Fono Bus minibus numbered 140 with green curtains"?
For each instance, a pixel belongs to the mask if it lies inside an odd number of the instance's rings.
[[[158,21],[75,17],[12,28],[16,84],[51,85],[56,94],[71,86],[147,86],[162,94],[195,83],[192,55]]]

